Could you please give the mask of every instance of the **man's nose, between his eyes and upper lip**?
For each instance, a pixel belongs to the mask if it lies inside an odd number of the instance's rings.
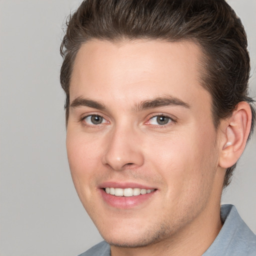
[[[139,134],[131,127],[115,127],[108,134],[102,163],[113,170],[138,167],[144,162]]]

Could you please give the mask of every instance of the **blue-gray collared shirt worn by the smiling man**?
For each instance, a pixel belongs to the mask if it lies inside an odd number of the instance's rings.
[[[235,206],[221,205],[220,217],[224,224],[202,256],[256,256],[256,235],[241,219]],[[79,256],[110,256],[110,246],[102,241]]]

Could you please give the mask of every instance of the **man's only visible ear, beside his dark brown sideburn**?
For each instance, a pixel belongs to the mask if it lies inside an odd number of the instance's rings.
[[[237,104],[231,117],[220,123],[219,166],[228,168],[241,156],[250,132],[251,109],[247,102]]]

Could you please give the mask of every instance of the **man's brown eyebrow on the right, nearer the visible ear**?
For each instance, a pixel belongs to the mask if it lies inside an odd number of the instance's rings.
[[[182,106],[185,108],[190,108],[188,103],[185,103],[179,98],[166,96],[166,97],[157,97],[151,100],[144,100],[139,104],[135,105],[135,111],[141,111],[144,109],[161,107],[161,106]]]

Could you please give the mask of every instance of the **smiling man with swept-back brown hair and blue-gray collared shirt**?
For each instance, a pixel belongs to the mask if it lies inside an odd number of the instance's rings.
[[[67,155],[105,241],[81,255],[256,255],[222,188],[253,129],[224,0],[85,0],[61,45]]]

